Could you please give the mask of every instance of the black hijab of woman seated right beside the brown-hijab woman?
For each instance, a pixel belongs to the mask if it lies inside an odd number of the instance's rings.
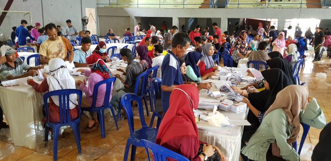
[[[274,103],[279,91],[291,85],[286,74],[278,68],[264,70],[261,72],[264,79],[269,83],[269,90],[261,92],[249,93],[248,100],[251,104],[261,113],[266,112],[269,107]],[[250,115],[250,114],[249,114]],[[253,124],[258,125],[258,118],[253,115],[248,116],[247,120],[252,121]]]

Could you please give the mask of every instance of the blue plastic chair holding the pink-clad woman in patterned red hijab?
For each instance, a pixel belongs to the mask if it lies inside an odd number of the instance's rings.
[[[91,107],[88,108],[82,108],[82,111],[89,111],[89,112],[97,112],[98,113],[98,119],[99,119],[99,123],[100,123],[100,129],[101,129],[101,138],[106,138],[106,130],[105,130],[105,118],[104,118],[104,111],[109,108],[110,111],[112,112],[112,115],[114,117],[115,120],[115,125],[116,125],[116,129],[118,130],[118,126],[117,126],[117,120],[116,120],[116,116],[114,113],[114,108],[113,106],[110,104],[110,92],[113,90],[112,88],[112,84],[114,84],[116,81],[116,77],[111,77],[108,79],[105,79],[103,81],[98,82],[93,89],[93,102]],[[101,85],[105,85],[105,87],[100,87]],[[101,107],[96,107],[96,101],[97,101],[97,95],[98,95],[98,88],[105,88],[106,89],[106,93],[105,93],[105,97],[104,97],[104,105]]]

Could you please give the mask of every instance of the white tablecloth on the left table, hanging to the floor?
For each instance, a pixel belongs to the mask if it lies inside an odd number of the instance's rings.
[[[111,63],[106,64],[107,66],[111,65]],[[126,70],[126,68],[122,69]],[[110,70],[113,74],[121,74],[121,77],[126,79],[126,76],[122,75],[123,73],[115,68]],[[80,75],[73,76],[73,78],[75,80],[87,80],[88,77]],[[36,80],[35,77],[34,79]],[[40,81],[36,82],[41,83]],[[121,88],[124,88],[124,85],[117,79],[114,84],[114,91]],[[37,144],[42,143],[44,140],[43,125],[41,123],[43,118],[43,93],[35,92],[27,83],[6,88],[0,86],[0,93],[0,105],[10,126],[12,143],[15,146],[36,149]]]

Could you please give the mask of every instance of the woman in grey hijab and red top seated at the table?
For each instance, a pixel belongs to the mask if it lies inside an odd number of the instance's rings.
[[[212,55],[214,54],[215,46],[211,43],[206,43],[202,46],[202,57],[199,64],[200,74],[202,76],[214,72],[218,69],[218,66],[215,66]]]

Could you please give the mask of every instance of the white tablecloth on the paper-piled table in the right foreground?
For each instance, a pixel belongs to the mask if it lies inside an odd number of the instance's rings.
[[[213,86],[210,91],[217,91],[217,88]],[[200,94],[199,97],[211,98],[205,94]],[[248,110],[241,113],[234,113],[232,111],[220,112],[225,117],[228,117],[232,120],[245,120],[248,114]],[[208,122],[201,120],[200,122],[196,123],[196,125],[199,131],[199,140],[220,148],[222,153],[227,157],[228,161],[239,161],[243,126],[237,126],[234,128],[228,126],[214,127],[209,125]]]

